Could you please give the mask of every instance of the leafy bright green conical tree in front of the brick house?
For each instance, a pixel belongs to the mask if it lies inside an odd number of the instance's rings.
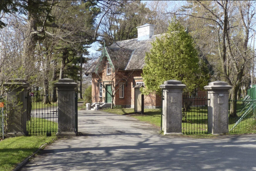
[[[145,62],[142,74],[146,85],[143,90],[145,94],[160,94],[159,85],[171,79],[182,81],[187,85],[186,91],[192,92],[206,85],[209,77],[204,62],[199,59],[197,49],[194,48],[192,37],[177,21],[171,22],[166,34],[152,43]]]

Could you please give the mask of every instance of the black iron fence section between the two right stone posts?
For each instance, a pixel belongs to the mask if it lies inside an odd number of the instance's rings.
[[[183,95],[183,134],[208,133],[208,100],[206,97]]]

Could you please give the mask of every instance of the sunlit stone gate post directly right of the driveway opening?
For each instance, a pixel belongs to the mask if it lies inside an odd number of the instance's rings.
[[[164,134],[182,134],[182,93],[186,85],[181,81],[169,80],[160,85],[163,89],[163,118]]]

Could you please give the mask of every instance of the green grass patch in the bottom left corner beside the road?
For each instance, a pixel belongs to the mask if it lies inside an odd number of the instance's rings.
[[[17,164],[36,152],[55,136],[19,136],[0,141],[0,171],[13,170]]]

